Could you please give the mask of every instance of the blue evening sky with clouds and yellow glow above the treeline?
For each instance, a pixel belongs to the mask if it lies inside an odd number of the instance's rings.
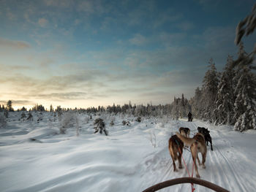
[[[255,1],[0,0],[0,104],[49,108],[191,98],[237,57]],[[243,38],[251,52],[256,35]]]

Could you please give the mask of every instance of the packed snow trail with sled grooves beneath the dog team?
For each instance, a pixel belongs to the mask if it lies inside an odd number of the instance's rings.
[[[200,121],[198,122],[197,121],[195,122],[181,121],[180,126],[190,128],[191,130],[190,137],[193,137],[193,135],[197,133],[197,126],[203,126],[203,127],[209,128],[208,125],[201,123]],[[236,166],[233,165],[233,161],[230,161],[227,155],[225,155],[225,153],[223,152],[223,149],[219,148],[218,146],[222,141],[225,141],[225,145],[227,145],[227,147],[231,147],[230,142],[228,141],[227,138],[225,138],[225,136],[220,131],[217,131],[214,129],[211,129],[210,131],[211,131],[211,137],[213,139],[214,150],[211,151],[209,145],[207,146],[208,152],[206,155],[206,169],[202,169],[200,168],[200,166],[197,165],[200,176],[202,177],[203,180],[204,179],[209,180],[213,183],[216,183],[219,186],[227,188],[227,190],[230,190],[230,191],[249,191],[248,188],[246,188],[246,185],[243,184],[244,180],[241,178],[241,174],[238,173],[239,171],[236,169]],[[236,153],[236,151],[234,153]],[[189,153],[189,151],[184,150],[183,156],[184,156],[184,161],[188,166],[189,172],[191,173],[192,172],[192,164],[190,162],[192,159],[191,154]],[[177,161],[176,161],[176,164],[178,164]],[[167,169],[169,169],[169,172],[166,172],[165,170],[165,172],[162,172],[162,175],[160,177],[156,175],[157,179],[154,180],[155,183],[152,183],[152,184],[157,184],[164,180],[170,180],[177,177],[188,177],[185,168],[178,169],[178,172],[175,172],[175,173],[173,172],[173,164],[172,164],[171,158],[168,165],[169,166],[167,167]],[[182,161],[182,166],[184,167],[183,161]],[[231,175],[233,175],[233,177],[231,178],[230,178],[230,173],[232,173]],[[232,183],[232,185],[230,185],[230,183]],[[208,189],[203,188],[199,185],[196,185],[196,186],[197,186],[196,188],[199,189],[197,191],[201,191],[201,190],[208,191]],[[177,186],[175,191],[187,190],[188,188],[190,188],[190,185],[184,184],[184,185]],[[163,189],[163,191],[165,191],[165,189]]]

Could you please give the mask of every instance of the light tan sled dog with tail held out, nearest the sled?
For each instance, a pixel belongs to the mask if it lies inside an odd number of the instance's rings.
[[[183,135],[179,134],[178,132],[176,132],[176,134],[177,134],[177,137],[179,139],[181,139],[182,142],[184,142],[185,144],[190,146],[191,155],[192,155],[193,161],[195,162],[195,172],[197,173],[196,176],[197,176],[197,178],[199,178],[200,175],[199,175],[198,169],[197,169],[196,158],[197,158],[198,164],[202,165],[203,168],[206,168],[205,162],[206,162],[207,148],[206,148],[206,141],[203,137],[203,134],[197,133],[197,134],[195,134],[195,136],[193,138],[184,137]],[[198,153],[201,153],[201,155],[202,155],[202,158],[203,158],[202,164],[200,164],[200,160],[198,158]]]

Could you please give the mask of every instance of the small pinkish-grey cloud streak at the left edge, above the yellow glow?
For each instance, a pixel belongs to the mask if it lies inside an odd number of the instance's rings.
[[[5,49],[12,48],[12,49],[23,50],[23,49],[30,48],[31,46],[27,42],[0,38],[0,47]]]

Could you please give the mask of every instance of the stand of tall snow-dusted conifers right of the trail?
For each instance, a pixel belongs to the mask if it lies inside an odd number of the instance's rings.
[[[196,118],[216,125],[234,125],[235,130],[256,129],[256,75],[253,72],[255,52],[247,54],[240,42],[238,59],[228,55],[222,73],[213,60],[203,78],[202,88],[189,101]]]

